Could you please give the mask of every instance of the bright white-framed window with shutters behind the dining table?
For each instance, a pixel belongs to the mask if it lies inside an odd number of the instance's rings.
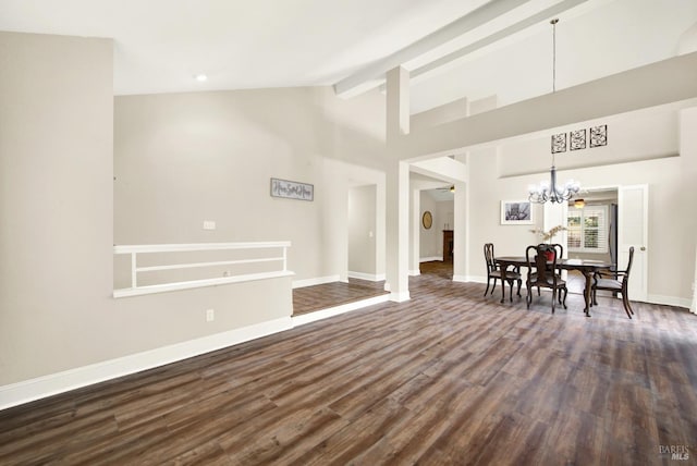
[[[566,229],[568,250],[608,253],[608,206],[568,209]]]

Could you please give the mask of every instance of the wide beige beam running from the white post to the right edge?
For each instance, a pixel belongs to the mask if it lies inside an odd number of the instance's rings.
[[[697,52],[414,131],[391,150],[401,160],[423,158],[695,98]]]

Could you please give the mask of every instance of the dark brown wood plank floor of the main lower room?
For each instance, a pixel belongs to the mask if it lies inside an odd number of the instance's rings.
[[[406,303],[0,412],[0,464],[695,464],[697,316],[421,271]]]

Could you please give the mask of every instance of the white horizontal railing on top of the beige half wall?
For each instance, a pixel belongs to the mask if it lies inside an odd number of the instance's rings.
[[[114,297],[136,296],[150,293],[162,293],[176,290],[187,290],[201,286],[213,286],[227,283],[247,282],[252,280],[265,280],[278,277],[292,275],[293,272],[288,270],[288,248],[291,242],[258,242],[258,243],[198,243],[198,244],[155,244],[155,245],[124,245],[114,246],[114,255],[131,256],[131,286],[113,291]],[[277,250],[280,255],[254,257],[254,258],[234,258],[225,260],[204,260],[182,263],[161,263],[139,266],[139,256],[146,254],[171,254],[171,253],[205,253],[205,252],[258,252],[261,249]],[[269,254],[269,253],[267,253]],[[195,280],[166,282],[157,284],[140,285],[138,273],[164,272],[172,270],[191,270],[191,269],[220,269],[229,266],[244,265],[262,265],[279,262],[279,267],[272,270],[264,270],[260,272],[243,272],[231,273],[225,270],[222,277],[199,278]]]

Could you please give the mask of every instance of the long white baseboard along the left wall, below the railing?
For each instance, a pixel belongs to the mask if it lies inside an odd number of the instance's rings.
[[[0,387],[0,410],[293,328],[291,317]]]

